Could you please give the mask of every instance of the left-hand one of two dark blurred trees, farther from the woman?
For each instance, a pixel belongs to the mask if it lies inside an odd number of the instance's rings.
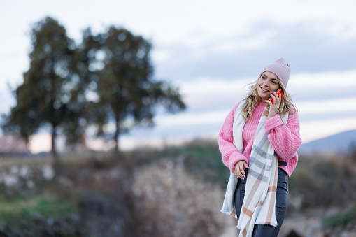
[[[59,164],[56,137],[68,124],[79,120],[73,92],[78,81],[73,76],[74,42],[51,17],[37,22],[31,30],[29,70],[24,82],[13,92],[17,100],[3,124],[4,131],[19,131],[27,139],[41,127],[50,127],[52,155]],[[78,77],[77,77],[78,78]],[[69,126],[71,127],[71,126]]]

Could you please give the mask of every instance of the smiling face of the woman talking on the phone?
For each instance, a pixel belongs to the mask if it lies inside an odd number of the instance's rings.
[[[270,71],[262,73],[257,81],[257,92],[261,97],[261,102],[268,100],[273,92],[279,88],[279,83],[276,74]]]

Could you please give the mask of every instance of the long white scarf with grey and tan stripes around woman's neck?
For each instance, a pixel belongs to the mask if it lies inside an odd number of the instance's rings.
[[[236,108],[234,115],[233,136],[234,145],[243,152],[242,131],[245,119],[242,116],[242,109],[245,101],[242,101]],[[286,124],[288,114],[281,115],[283,123]],[[262,114],[259,119],[255,139],[252,145],[250,164],[245,187],[245,198],[241,208],[240,218],[237,227],[240,229],[239,236],[252,236],[255,224],[271,224],[277,226],[276,220],[276,190],[278,176],[278,161],[276,153],[267,137],[268,133],[264,129],[264,120],[267,117]],[[233,215],[237,218],[234,193],[238,179],[230,172],[229,182],[225,193],[222,213]]]

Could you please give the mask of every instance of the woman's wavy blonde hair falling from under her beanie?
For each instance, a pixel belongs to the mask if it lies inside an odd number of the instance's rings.
[[[259,78],[261,77],[261,75],[259,76]],[[245,103],[245,106],[243,107],[242,115],[243,115],[243,118],[246,121],[249,120],[252,117],[252,111],[257,106],[257,104],[259,102],[263,102],[263,101],[261,101],[261,98],[259,97],[258,92],[257,92],[257,82],[258,82],[259,78],[255,82],[252,82],[250,84],[251,85],[250,86],[250,91],[248,92],[248,95],[244,99],[246,101],[246,103]],[[290,113],[290,110],[292,109],[292,107],[294,108],[294,112],[293,113],[295,113],[297,111],[297,107],[294,106],[294,104],[292,103],[292,96],[290,96],[290,94],[287,93],[287,91],[285,90],[285,87],[280,82],[278,77],[277,77],[277,79],[278,79],[279,86],[282,87],[283,92],[284,92],[282,100],[280,101],[280,106],[278,108],[278,112],[277,113],[279,115],[285,115],[287,113]],[[264,113],[263,114],[265,116],[268,116],[268,114],[269,114],[269,103],[266,103],[266,107],[264,107]]]

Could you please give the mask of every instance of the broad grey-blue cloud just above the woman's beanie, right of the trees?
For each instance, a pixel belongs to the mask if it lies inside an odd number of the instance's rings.
[[[319,22],[322,29],[327,21]],[[153,57],[156,76],[183,81],[192,78],[245,78],[259,73],[267,63],[285,57],[292,73],[320,73],[355,69],[356,35],[331,34],[314,29],[310,22],[280,24],[257,22],[244,33],[228,38],[201,40],[191,47],[179,44],[157,45]],[[232,30],[234,31],[234,30]],[[157,60],[157,61],[155,61]]]

